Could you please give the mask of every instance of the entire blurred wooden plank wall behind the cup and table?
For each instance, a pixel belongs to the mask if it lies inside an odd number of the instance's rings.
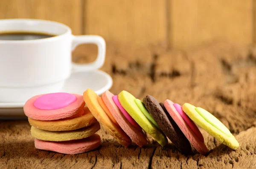
[[[38,18],[70,26],[73,34],[146,46],[189,49],[215,39],[256,41],[253,0],[1,0],[0,19]]]

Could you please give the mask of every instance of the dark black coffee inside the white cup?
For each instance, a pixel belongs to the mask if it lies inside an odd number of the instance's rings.
[[[42,32],[0,32],[0,40],[35,40],[54,36]]]

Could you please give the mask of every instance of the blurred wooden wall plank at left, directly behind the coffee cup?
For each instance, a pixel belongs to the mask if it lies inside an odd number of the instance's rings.
[[[82,34],[81,0],[1,0],[0,19],[34,18],[64,23]]]

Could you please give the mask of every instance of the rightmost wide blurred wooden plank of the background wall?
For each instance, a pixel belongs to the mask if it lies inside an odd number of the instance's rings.
[[[175,49],[188,49],[214,39],[253,42],[253,0],[172,0],[169,40]]]

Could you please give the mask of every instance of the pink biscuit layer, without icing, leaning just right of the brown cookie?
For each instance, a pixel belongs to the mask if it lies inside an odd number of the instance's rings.
[[[165,106],[167,112],[171,115],[172,119],[177,123],[180,127],[180,130],[192,144],[192,146],[202,155],[206,155],[208,152],[207,147],[205,146],[204,142],[200,140],[200,138],[195,135],[189,125],[183,120],[181,115],[177,112],[175,107],[173,106],[173,102],[171,100],[165,100],[163,105]]]

